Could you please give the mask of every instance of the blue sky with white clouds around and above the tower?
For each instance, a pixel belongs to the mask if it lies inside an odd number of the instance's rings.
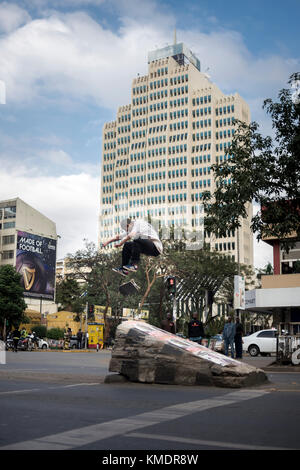
[[[0,200],[19,196],[54,220],[59,257],[96,241],[102,126],[130,102],[148,51],[176,27],[269,134],[262,102],[300,70],[299,17],[299,0],[0,0]],[[257,266],[271,259],[264,244],[255,253]]]

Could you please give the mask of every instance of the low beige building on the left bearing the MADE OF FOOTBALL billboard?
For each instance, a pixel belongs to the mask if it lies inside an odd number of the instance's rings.
[[[55,300],[56,225],[20,198],[0,201],[0,266],[22,275],[29,309],[57,311]]]

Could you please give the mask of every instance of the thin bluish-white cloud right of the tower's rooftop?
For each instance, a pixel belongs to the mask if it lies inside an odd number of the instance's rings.
[[[210,33],[182,31],[184,41],[198,55],[202,69],[210,68],[212,80],[222,91],[238,93],[244,97],[273,97],[295,71],[295,62],[279,55],[256,57],[246,47],[243,36],[230,30]]]

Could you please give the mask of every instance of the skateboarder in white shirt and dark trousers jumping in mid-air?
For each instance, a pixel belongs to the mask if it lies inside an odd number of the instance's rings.
[[[122,233],[103,243],[102,246],[119,241],[115,246],[123,246],[122,265],[113,271],[127,276],[129,272],[137,271],[141,254],[159,256],[163,252],[163,246],[157,232],[145,220],[123,219],[120,225]]]

